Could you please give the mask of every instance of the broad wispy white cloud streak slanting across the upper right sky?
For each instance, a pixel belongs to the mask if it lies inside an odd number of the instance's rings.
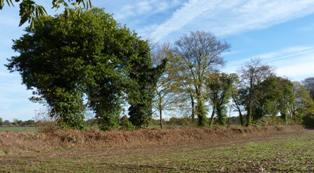
[[[267,28],[314,13],[314,0],[189,0],[154,29],[159,41],[173,32],[205,30],[219,36]]]

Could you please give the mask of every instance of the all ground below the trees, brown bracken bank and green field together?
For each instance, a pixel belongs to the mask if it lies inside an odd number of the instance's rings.
[[[0,172],[314,172],[301,127],[2,132],[0,146]]]

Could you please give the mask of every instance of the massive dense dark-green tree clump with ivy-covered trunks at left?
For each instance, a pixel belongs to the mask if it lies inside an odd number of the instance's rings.
[[[84,94],[104,130],[118,124],[125,93],[131,106],[149,107],[142,97],[152,93],[146,87],[155,69],[147,43],[100,9],[69,14],[41,17],[14,42],[20,55],[10,59],[8,68],[20,72],[37,95],[33,100],[45,100],[52,117],[78,129],[83,128]]]

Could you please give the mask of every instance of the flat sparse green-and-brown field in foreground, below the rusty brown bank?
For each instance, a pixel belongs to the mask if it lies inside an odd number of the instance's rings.
[[[23,154],[3,152],[0,172],[314,172],[310,130],[215,145],[30,148]]]

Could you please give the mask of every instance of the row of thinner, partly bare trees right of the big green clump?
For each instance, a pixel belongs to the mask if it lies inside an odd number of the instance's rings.
[[[243,126],[264,117],[314,125],[314,78],[302,83],[290,81],[259,59],[248,61],[238,74],[221,72],[221,54],[228,47],[211,34],[192,32],[174,45],[157,49],[154,58],[168,60],[156,87],[155,108],[160,120],[163,111],[176,111],[184,105],[199,126],[226,125],[228,114],[234,115],[234,111]]]

